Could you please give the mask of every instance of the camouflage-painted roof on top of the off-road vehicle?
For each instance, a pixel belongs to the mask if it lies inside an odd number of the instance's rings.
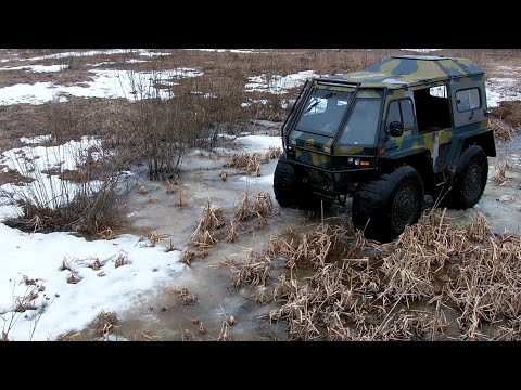
[[[399,89],[450,78],[484,75],[468,58],[433,55],[393,55],[364,70],[334,75],[325,80],[357,83],[361,88]]]

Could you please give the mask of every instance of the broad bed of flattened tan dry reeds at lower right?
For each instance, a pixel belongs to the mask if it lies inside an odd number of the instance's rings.
[[[285,322],[290,340],[519,339],[518,236],[494,235],[482,214],[458,225],[445,210],[381,246],[350,229],[319,225],[300,237],[288,232],[289,242],[272,237],[262,255],[227,261],[233,285],[256,286],[259,304],[278,302],[266,317]],[[272,281],[276,257],[287,259],[289,272]]]

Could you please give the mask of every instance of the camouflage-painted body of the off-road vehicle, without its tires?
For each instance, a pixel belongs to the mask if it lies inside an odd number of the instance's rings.
[[[282,127],[282,162],[300,193],[327,202],[345,205],[361,182],[404,165],[435,198],[462,151],[475,144],[496,155],[487,116],[484,73],[469,60],[391,56],[308,80]]]

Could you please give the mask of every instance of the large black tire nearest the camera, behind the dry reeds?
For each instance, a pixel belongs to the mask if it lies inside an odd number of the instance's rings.
[[[358,185],[353,196],[353,224],[367,238],[386,243],[418,221],[422,204],[423,183],[418,171],[399,167]]]

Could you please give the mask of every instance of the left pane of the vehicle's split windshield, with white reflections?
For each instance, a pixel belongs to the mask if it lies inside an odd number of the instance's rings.
[[[345,116],[351,96],[350,92],[315,90],[305,104],[296,128],[334,135]]]

